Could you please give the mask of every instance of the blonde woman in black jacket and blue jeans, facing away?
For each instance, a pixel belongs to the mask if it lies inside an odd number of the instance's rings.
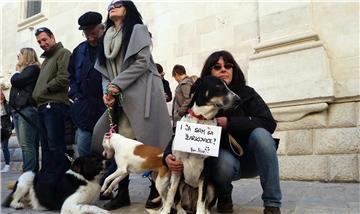
[[[40,74],[40,62],[32,48],[18,54],[18,69],[11,77],[10,106],[18,143],[22,151],[23,172],[39,170],[38,112],[32,92]]]

